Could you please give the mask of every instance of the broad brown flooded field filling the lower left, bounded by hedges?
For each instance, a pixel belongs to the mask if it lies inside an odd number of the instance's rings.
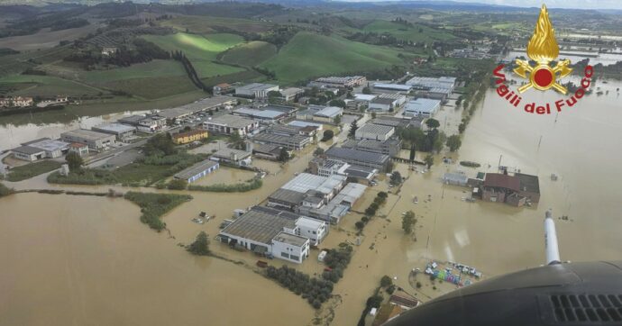
[[[313,315],[249,269],[188,255],[122,199],[14,195],[0,206],[2,325],[290,325]],[[279,318],[261,302],[281,307]]]

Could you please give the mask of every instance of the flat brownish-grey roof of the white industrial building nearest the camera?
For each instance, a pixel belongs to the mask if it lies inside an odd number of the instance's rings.
[[[283,228],[294,229],[296,220],[287,215],[268,213],[264,210],[255,210],[244,213],[233,223],[220,231],[224,235],[232,235],[256,242],[270,244]]]

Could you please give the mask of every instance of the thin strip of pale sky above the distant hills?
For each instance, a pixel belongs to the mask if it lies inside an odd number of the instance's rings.
[[[381,1],[427,1],[476,3],[487,5],[511,5],[517,7],[539,7],[543,3],[550,8],[565,9],[618,9],[622,10],[622,0],[335,0],[346,2],[381,2]]]

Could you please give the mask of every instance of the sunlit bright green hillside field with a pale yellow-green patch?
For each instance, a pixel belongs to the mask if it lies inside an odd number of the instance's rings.
[[[172,35],[146,35],[143,38],[151,41],[164,50],[181,50],[190,59],[199,77],[213,77],[233,74],[243,68],[231,67],[215,63],[220,52],[233,48],[244,41],[234,34],[209,34],[204,36],[178,32]]]

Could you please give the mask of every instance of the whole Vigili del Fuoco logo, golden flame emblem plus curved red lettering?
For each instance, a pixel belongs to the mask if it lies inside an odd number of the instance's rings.
[[[497,77],[497,94],[502,98],[508,100],[509,104],[518,107],[523,99],[520,94],[527,92],[530,89],[535,91],[549,91],[551,88],[559,92],[562,95],[568,94],[568,89],[560,84],[559,80],[563,77],[570,75],[572,68],[568,66],[571,64],[569,59],[557,61],[554,67],[551,66],[551,62],[557,59],[559,56],[560,48],[555,40],[555,31],[553,30],[553,24],[549,19],[549,13],[546,10],[546,5],[542,5],[540,9],[540,16],[538,22],[535,23],[534,35],[527,43],[527,56],[532,61],[535,61],[535,65],[532,66],[530,61],[517,59],[517,67],[514,68],[514,73],[517,77],[526,79],[526,83],[518,87],[518,91],[515,92],[509,89],[506,82],[506,75],[503,74],[503,68],[505,65],[501,64],[493,71],[494,76]],[[581,79],[581,86],[577,88],[574,94],[568,98],[555,101],[554,104],[536,104],[534,102],[525,104],[525,112],[537,113],[537,114],[551,114],[553,111],[561,112],[564,106],[572,107],[577,104],[585,92],[590,88],[591,77],[594,74],[594,68],[590,65],[585,67],[584,77]]]

